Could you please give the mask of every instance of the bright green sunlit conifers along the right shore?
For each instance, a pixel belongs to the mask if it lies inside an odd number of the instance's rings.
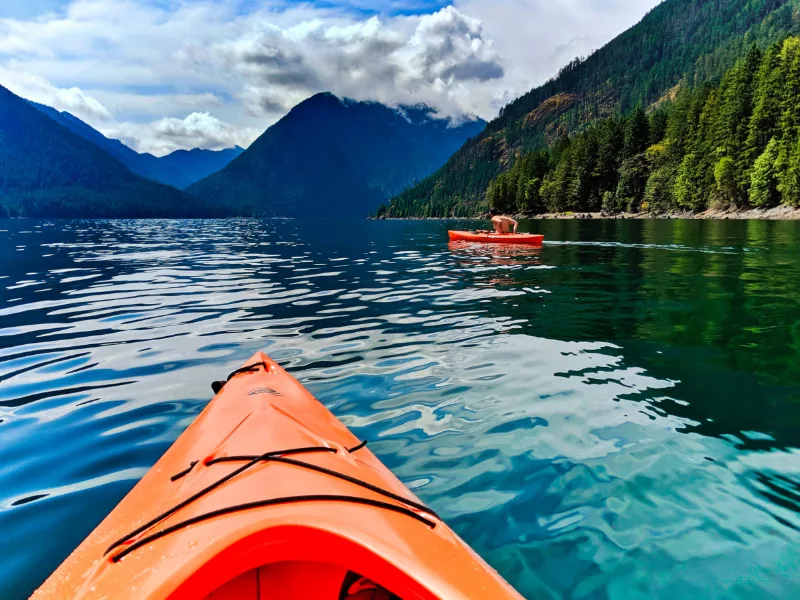
[[[800,206],[800,37],[752,46],[718,85],[595,121],[522,154],[485,202],[504,212]],[[452,209],[429,205],[435,210]],[[417,213],[422,214],[422,213]],[[428,215],[425,215],[428,216]]]

